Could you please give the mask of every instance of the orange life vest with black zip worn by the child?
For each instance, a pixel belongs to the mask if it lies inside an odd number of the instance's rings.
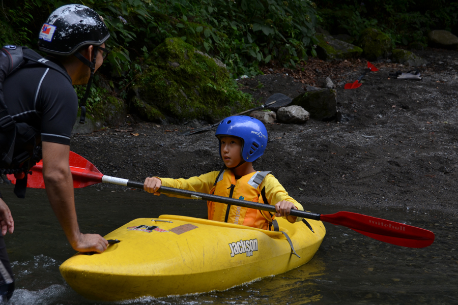
[[[230,169],[220,172],[210,194],[223,197],[236,198],[252,202],[265,203],[261,196],[261,182],[270,172],[253,172],[236,181],[235,175]],[[268,202],[266,202],[269,204]],[[268,229],[275,216],[268,211],[246,208],[230,204],[207,202],[208,219],[245,225],[253,228]]]

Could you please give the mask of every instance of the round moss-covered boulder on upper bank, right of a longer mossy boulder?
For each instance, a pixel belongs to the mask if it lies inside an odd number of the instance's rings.
[[[366,28],[360,35],[358,45],[367,60],[388,58],[393,49],[391,39],[376,28]]]

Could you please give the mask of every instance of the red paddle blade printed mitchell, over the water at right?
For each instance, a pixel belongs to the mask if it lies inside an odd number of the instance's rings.
[[[321,215],[320,219],[396,246],[424,248],[434,241],[434,233],[431,231],[352,212]]]

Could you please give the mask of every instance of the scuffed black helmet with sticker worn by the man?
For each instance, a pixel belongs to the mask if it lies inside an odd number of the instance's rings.
[[[38,47],[55,55],[72,55],[82,46],[100,46],[110,34],[105,23],[91,8],[70,4],[56,9],[43,24]]]

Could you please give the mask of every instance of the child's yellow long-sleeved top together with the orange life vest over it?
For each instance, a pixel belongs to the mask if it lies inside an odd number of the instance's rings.
[[[268,172],[253,172],[236,179],[230,169],[223,172],[212,171],[189,179],[159,178],[165,187],[182,190],[215,194],[253,202],[275,205],[279,201],[290,201],[299,210],[304,210],[302,205],[288,195],[287,191],[278,180]],[[170,197],[187,198],[180,195]],[[268,211],[227,205],[218,202],[207,202],[208,218],[210,220],[246,225],[260,229],[270,229],[275,218]],[[297,218],[296,222],[301,221]]]

